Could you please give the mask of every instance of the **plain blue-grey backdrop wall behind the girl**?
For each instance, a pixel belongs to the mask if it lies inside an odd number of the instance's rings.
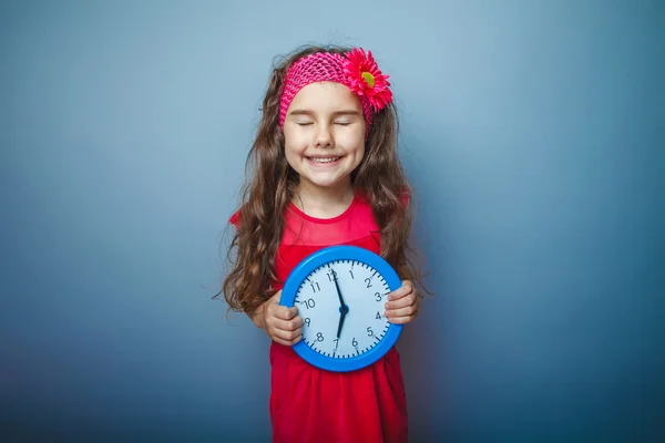
[[[413,441],[649,441],[665,415],[659,1],[4,1],[3,441],[269,439],[212,300],[273,56],[390,75],[436,296]],[[221,246],[222,245],[222,246]]]

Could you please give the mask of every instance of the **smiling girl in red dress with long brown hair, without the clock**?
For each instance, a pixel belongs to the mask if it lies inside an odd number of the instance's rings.
[[[406,442],[407,403],[392,348],[370,367],[328,372],[298,357],[303,319],[279,306],[289,272],[332,245],[380,254],[402,287],[388,297],[390,322],[408,323],[420,297],[407,259],[410,187],[397,154],[392,93],[371,52],[309,47],[272,73],[249,153],[223,285],[231,309],[273,340],[274,442]],[[419,278],[418,278],[419,279]]]

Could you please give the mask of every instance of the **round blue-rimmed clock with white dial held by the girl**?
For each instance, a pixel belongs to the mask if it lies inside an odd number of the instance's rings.
[[[376,362],[402,330],[383,317],[388,293],[400,286],[382,257],[357,246],[330,246],[306,257],[289,274],[279,300],[297,306],[304,320],[294,351],[336,372]]]

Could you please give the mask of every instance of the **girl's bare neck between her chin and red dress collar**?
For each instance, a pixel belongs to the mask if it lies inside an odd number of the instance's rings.
[[[336,186],[313,186],[300,182],[294,197],[294,204],[313,217],[332,218],[344,213],[354,199],[354,185],[350,181]]]

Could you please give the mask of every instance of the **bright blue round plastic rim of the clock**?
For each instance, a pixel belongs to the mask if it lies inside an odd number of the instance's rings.
[[[279,305],[291,308],[303,281],[318,267],[337,260],[354,260],[371,266],[383,277],[390,291],[401,287],[399,276],[381,256],[358,246],[329,246],[307,256],[291,270],[282,290]],[[402,328],[402,324],[389,323],[386,334],[376,347],[364,354],[345,359],[323,356],[307,346],[304,340],[294,344],[293,349],[303,359],[320,369],[334,372],[356,371],[383,357],[397,342]]]

